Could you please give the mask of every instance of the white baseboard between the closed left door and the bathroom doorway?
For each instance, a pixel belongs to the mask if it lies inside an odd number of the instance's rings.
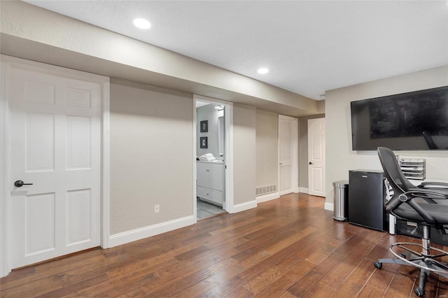
[[[190,215],[186,216],[185,218],[178,218],[176,220],[162,222],[157,225],[141,227],[139,229],[133,229],[131,231],[114,234],[109,237],[109,248],[169,232],[181,227],[187,227],[188,225],[193,225],[194,223],[195,222],[193,215]]]

